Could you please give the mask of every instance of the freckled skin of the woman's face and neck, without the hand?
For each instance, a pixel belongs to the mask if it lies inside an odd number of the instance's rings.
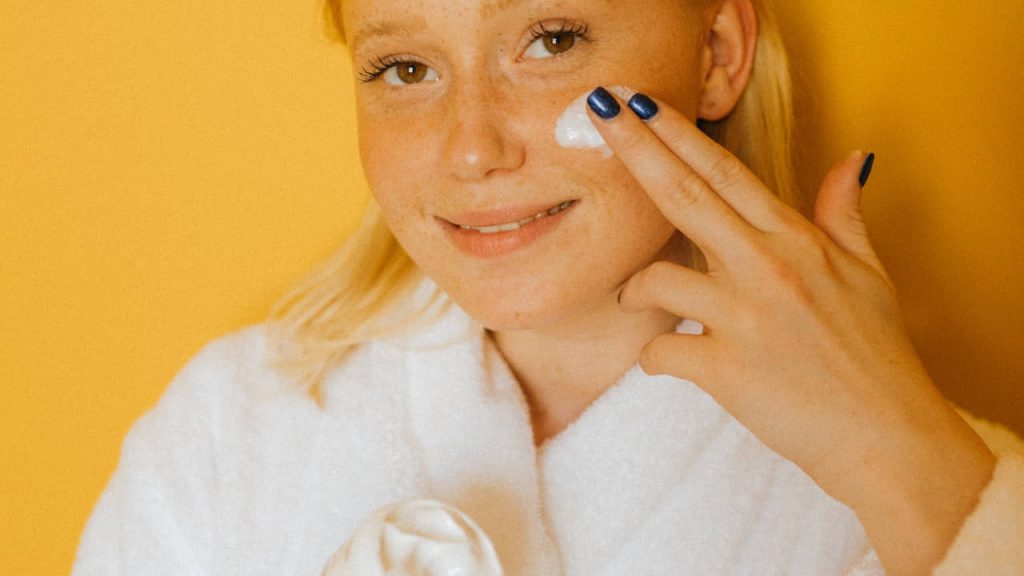
[[[397,53],[438,73],[438,81],[415,86],[359,84],[366,173],[418,265],[495,331],[542,442],[635,364],[650,338],[676,325],[664,311],[627,315],[615,296],[643,266],[687,252],[621,162],[562,149],[555,123],[600,83],[658,94],[695,118],[709,66],[698,39],[714,13],[680,2],[644,10],[605,1],[487,9],[382,0],[343,8],[355,70]],[[558,57],[525,56],[531,28],[565,18],[585,23],[589,39]],[[393,34],[373,37],[382,30]],[[435,219],[567,199],[580,202],[555,234],[498,260],[467,257]]]

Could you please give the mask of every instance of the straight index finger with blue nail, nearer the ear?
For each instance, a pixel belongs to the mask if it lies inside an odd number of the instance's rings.
[[[641,118],[646,118],[647,125],[669,150],[755,228],[777,231],[782,228],[785,217],[796,215],[745,164],[678,110],[641,93],[630,99],[629,107]]]

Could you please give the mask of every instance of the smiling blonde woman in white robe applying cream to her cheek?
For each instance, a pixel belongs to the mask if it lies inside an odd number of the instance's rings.
[[[914,355],[872,157],[813,221],[772,194],[765,2],[330,7],[379,212],[140,420],[77,574],[316,574],[416,497],[511,575],[1024,570],[1019,441]]]

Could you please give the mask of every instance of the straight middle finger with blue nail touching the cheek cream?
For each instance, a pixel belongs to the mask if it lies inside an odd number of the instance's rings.
[[[757,232],[692,168],[679,159],[634,114],[603,88],[591,94],[590,114],[634,178],[669,219],[709,257],[736,251]],[[595,110],[603,110],[598,114]],[[613,113],[613,114],[612,114]]]

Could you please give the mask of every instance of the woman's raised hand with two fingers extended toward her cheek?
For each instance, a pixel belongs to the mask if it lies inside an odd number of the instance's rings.
[[[689,379],[859,516],[891,574],[937,564],[993,457],[914,353],[860,216],[856,153],[826,176],[814,221],[667,105],[644,122],[593,115],[706,274],[656,262],[622,305],[703,324],[643,351],[648,373]],[[623,110],[629,109],[625,106]]]

